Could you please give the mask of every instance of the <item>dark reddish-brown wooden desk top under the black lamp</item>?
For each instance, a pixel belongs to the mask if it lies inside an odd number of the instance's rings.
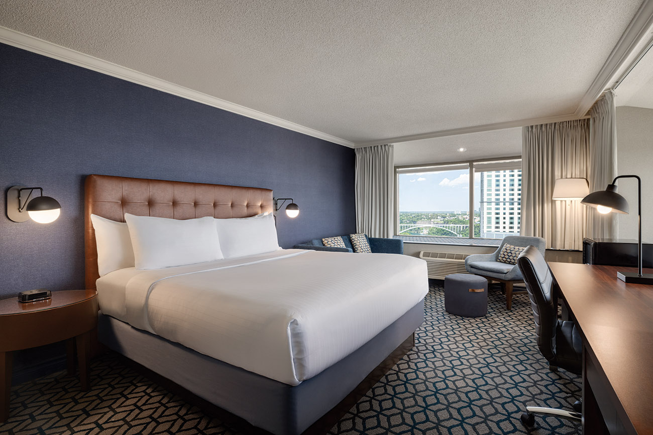
[[[616,277],[617,271],[635,268],[549,267],[622,412],[637,434],[653,433],[653,286],[626,284]]]

